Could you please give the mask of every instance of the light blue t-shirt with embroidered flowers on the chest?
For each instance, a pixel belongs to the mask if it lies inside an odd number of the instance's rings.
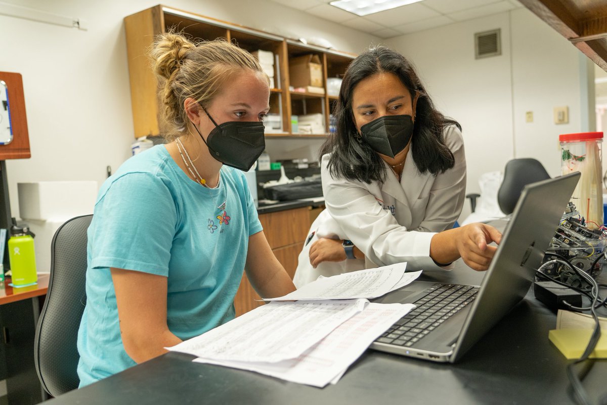
[[[120,337],[110,267],[168,277],[168,327],[185,340],[234,318],[248,239],[261,230],[239,170],[223,166],[210,189],[164,145],[129,158],[101,187],[88,231],[80,386],[135,365]]]

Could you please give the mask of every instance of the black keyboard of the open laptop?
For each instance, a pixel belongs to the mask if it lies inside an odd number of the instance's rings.
[[[399,319],[375,341],[402,347],[412,346],[474,301],[478,287],[435,284],[426,291],[429,294],[413,303],[416,308]]]

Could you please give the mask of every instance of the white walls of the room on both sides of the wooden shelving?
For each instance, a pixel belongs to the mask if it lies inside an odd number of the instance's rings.
[[[6,1],[6,0],[5,0]],[[16,183],[96,180],[129,156],[132,116],[124,16],[151,0],[8,0],[58,15],[84,18],[81,31],[0,15],[0,70],[22,73],[32,158],[7,162],[13,215]],[[360,52],[375,36],[331,24],[263,0],[174,0],[171,7],[280,35],[320,36],[337,49]],[[287,28],[285,28],[287,27]],[[502,55],[473,56],[473,34],[501,28]],[[435,103],[463,126],[468,192],[478,177],[512,157],[535,157],[558,174],[558,134],[586,130],[582,117],[583,58],[526,9],[458,22],[384,41],[418,67]],[[552,107],[569,106],[570,123],[552,123]],[[594,111],[594,106],[592,106]],[[534,122],[524,122],[524,112]],[[586,115],[585,115],[586,114]],[[319,140],[271,140],[271,157],[316,156]],[[469,213],[464,206],[462,218]]]

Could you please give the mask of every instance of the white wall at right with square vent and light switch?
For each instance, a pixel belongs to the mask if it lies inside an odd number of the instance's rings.
[[[474,33],[501,29],[502,54],[475,60]],[[558,135],[580,132],[585,60],[569,41],[527,9],[458,22],[385,41],[416,65],[438,108],[463,127],[467,192],[507,160],[534,157],[560,174]],[[583,62],[583,63],[582,63]],[[552,107],[569,106],[569,124],[552,122]],[[594,110],[594,106],[592,106]],[[534,122],[525,122],[525,112]],[[470,213],[464,205],[460,219]]]

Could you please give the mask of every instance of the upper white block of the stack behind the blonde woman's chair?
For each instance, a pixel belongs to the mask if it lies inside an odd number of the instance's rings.
[[[17,183],[22,219],[70,219],[93,213],[98,185],[86,182]]]

